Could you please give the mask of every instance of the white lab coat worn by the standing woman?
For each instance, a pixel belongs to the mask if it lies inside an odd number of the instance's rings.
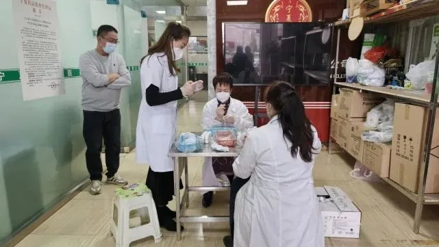
[[[171,75],[166,55],[155,53],[145,57],[140,67],[140,81],[142,101],[136,129],[136,161],[149,164],[155,172],[173,171],[174,162],[168,153],[177,129],[177,101],[149,106],[145,99],[145,91],[151,83],[160,88],[160,92],[178,88],[178,78]]]

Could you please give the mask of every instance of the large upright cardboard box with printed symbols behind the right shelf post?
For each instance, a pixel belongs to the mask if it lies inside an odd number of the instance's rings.
[[[390,174],[392,181],[412,192],[418,192],[419,172],[427,136],[427,108],[403,103],[395,104]],[[439,111],[436,120],[439,122]],[[425,193],[439,192],[439,131],[435,126]]]

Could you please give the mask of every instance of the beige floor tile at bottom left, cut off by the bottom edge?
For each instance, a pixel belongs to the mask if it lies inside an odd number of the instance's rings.
[[[94,236],[30,234],[15,247],[88,247]]]

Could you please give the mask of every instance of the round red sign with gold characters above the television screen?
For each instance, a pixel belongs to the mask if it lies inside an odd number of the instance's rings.
[[[266,23],[308,23],[312,10],[306,0],[274,0],[265,13]]]

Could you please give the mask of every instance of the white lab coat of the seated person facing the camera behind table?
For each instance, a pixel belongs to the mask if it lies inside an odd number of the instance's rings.
[[[203,120],[201,125],[203,129],[212,126],[221,125],[221,122],[215,120],[216,118],[216,108],[218,108],[218,100],[212,99],[204,105],[203,108]],[[253,116],[249,114],[249,110],[241,101],[237,99],[230,99],[229,109],[227,110],[227,115],[232,115],[235,117],[235,126],[241,131],[245,131],[253,127]],[[230,182],[227,176],[224,174],[218,174],[221,179],[225,182]],[[218,187],[221,183],[218,181],[214,168],[212,167],[212,158],[207,157],[204,159],[203,164],[203,186],[206,187]],[[204,194],[205,192],[203,192]]]

